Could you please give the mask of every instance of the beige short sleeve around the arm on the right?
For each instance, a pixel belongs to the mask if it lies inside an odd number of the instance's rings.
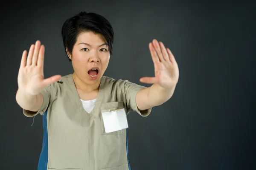
[[[127,113],[132,112],[132,111],[136,111],[137,113],[139,113],[143,117],[148,116],[151,113],[152,108],[149,108],[149,109],[144,110],[144,111],[140,111],[138,109],[137,103],[136,103],[137,93],[141,89],[146,88],[146,87],[141,86],[141,85],[137,85],[137,84],[129,82],[127,80],[125,81],[124,86],[125,86]]]

